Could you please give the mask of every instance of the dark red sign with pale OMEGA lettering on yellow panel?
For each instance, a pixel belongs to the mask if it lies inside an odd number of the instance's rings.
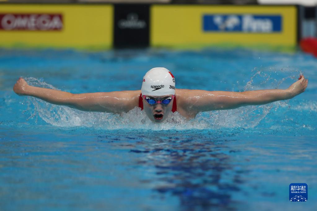
[[[0,30],[61,31],[61,14],[0,14]]]

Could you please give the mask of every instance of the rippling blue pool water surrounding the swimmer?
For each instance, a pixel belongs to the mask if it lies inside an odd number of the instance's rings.
[[[178,113],[82,112],[17,96],[17,78],[72,93],[140,89],[152,67],[177,88],[307,90],[282,102]],[[244,49],[0,50],[0,210],[316,210],[317,59]],[[290,202],[307,183],[307,202]]]

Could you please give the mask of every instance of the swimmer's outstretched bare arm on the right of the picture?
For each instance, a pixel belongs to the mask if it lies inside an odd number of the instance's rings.
[[[247,105],[262,105],[279,100],[291,99],[301,94],[307,87],[308,80],[300,76],[299,80],[288,89],[254,90],[244,92],[189,90],[185,97],[187,110],[192,113],[235,109]],[[187,95],[187,96],[186,96]]]

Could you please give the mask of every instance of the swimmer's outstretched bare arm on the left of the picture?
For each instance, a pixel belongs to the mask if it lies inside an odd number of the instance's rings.
[[[72,94],[69,92],[30,86],[19,78],[13,87],[20,96],[33,96],[55,105],[65,105],[82,111],[108,113],[127,112],[138,106],[140,90]]]

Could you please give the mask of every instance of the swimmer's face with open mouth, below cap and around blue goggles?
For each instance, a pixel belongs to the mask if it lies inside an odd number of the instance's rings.
[[[162,101],[166,98],[172,97],[172,95],[164,95],[164,96],[151,96],[146,95],[146,97],[150,97],[152,99],[155,99],[156,101]],[[173,107],[173,101],[171,100],[170,103],[167,105],[162,103],[155,103],[153,105],[146,102],[146,100],[143,98],[143,110],[145,111],[146,115],[150,118],[152,122],[155,123],[161,123],[164,120],[166,120],[168,114],[171,112]]]

